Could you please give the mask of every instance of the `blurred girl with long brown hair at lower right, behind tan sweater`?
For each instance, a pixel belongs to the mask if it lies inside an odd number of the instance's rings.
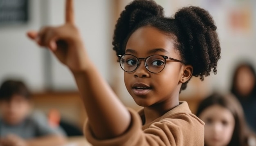
[[[205,146],[256,146],[243,109],[232,95],[210,95],[199,104],[197,116],[205,122]]]

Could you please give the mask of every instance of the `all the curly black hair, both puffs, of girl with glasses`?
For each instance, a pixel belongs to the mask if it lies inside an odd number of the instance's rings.
[[[163,13],[163,8],[153,0],[135,0],[127,5],[115,26],[112,44],[116,55],[125,53],[126,43],[135,30],[151,26],[173,39],[184,64],[193,66],[193,76],[204,80],[212,69],[216,74],[220,43],[209,12],[200,7],[184,7],[174,18],[166,18]],[[182,84],[181,90],[187,83]]]

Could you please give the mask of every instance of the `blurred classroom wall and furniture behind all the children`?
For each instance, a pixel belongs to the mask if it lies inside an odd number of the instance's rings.
[[[138,109],[126,91],[123,71],[112,51],[112,35],[120,12],[131,0],[75,0],[76,24],[91,60],[126,106]],[[155,0],[172,16],[185,6],[207,9],[218,27],[222,52],[218,73],[203,82],[193,77],[180,100],[192,112],[213,91],[227,92],[235,66],[249,61],[256,68],[255,0]],[[60,62],[26,37],[28,30],[64,22],[64,0],[0,0],[0,82],[23,80],[33,93],[34,108],[57,109],[67,121],[83,126],[86,117],[74,79]],[[101,90],[101,89],[99,89]]]

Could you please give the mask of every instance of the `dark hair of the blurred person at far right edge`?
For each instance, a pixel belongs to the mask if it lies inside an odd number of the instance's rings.
[[[234,70],[234,75],[233,75],[233,78],[232,78],[232,83],[231,83],[231,93],[233,93],[234,95],[236,95],[236,97],[241,97],[239,91],[238,91],[238,88],[236,86],[236,83],[237,83],[237,76],[238,76],[238,73],[239,71],[242,69],[242,68],[247,68],[249,69],[252,74],[254,75],[254,88],[252,89],[252,92],[249,93],[248,97],[255,97],[256,98],[256,72],[254,70],[254,67],[252,66],[252,64],[250,64],[249,62],[242,62],[240,64],[238,64],[238,66],[236,66],[236,69]]]

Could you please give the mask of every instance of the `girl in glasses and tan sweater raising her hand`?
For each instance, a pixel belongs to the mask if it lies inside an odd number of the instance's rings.
[[[186,7],[165,18],[152,0],[135,0],[117,21],[113,45],[124,82],[140,116],[118,100],[89,60],[74,25],[72,0],[66,23],[28,36],[47,46],[72,71],[88,113],[85,136],[103,146],[203,146],[204,123],[179,102],[192,75],[216,73],[220,44],[211,15]]]

